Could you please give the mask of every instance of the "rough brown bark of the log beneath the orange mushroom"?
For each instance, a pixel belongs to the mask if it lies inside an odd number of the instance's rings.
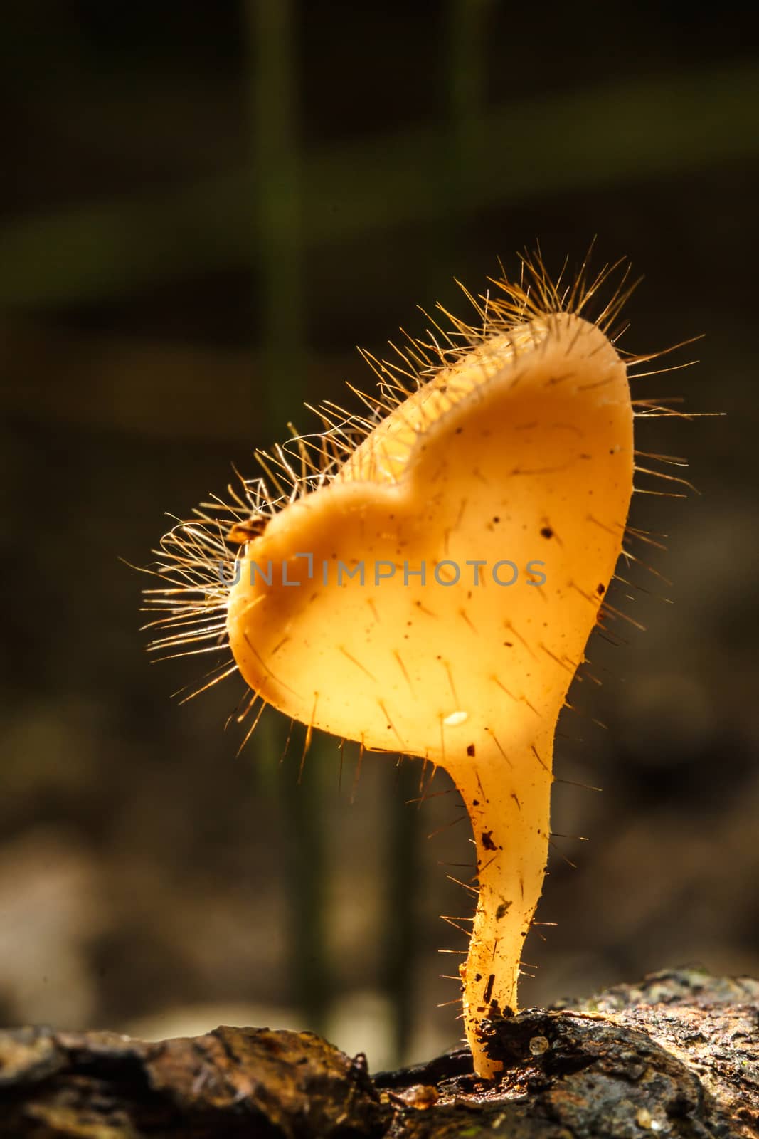
[[[221,1027],[147,1043],[0,1032],[0,1136],[262,1139],[749,1139],[759,1136],[759,982],[654,974],[488,1025],[504,1074],[464,1049],[371,1079],[304,1032]]]

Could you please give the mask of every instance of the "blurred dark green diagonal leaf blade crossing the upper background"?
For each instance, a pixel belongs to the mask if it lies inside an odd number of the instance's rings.
[[[302,236],[328,246],[368,231],[439,221],[561,190],[698,171],[756,155],[756,66],[627,81],[514,100],[482,118],[470,197],[451,195],[449,124],[410,128],[304,157]],[[259,156],[261,158],[261,156]],[[18,220],[0,231],[0,303],[44,306],[130,294],[145,285],[258,264],[250,240],[257,169],[163,194]]]

